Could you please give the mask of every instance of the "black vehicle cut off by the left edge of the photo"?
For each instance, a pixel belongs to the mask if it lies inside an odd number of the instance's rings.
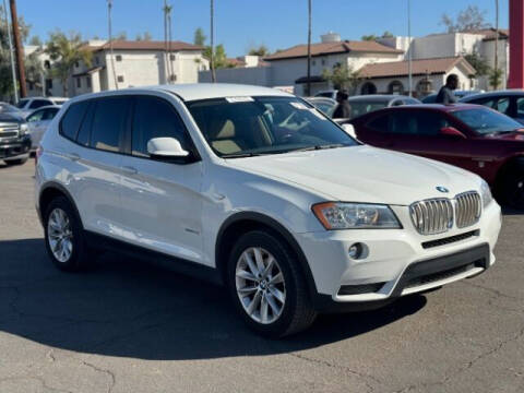
[[[11,114],[0,114],[0,159],[8,165],[24,164],[29,157],[31,136],[26,121]]]

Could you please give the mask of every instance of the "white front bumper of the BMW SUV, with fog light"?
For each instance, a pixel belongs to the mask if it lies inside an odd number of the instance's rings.
[[[392,209],[404,229],[295,234],[313,275],[317,309],[381,307],[400,296],[480,274],[495,263],[492,250],[501,227],[496,202],[476,225],[436,236],[416,233],[406,206]],[[355,242],[367,249],[360,260],[348,257]]]

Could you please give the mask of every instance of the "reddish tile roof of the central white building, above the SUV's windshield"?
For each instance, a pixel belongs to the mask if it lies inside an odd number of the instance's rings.
[[[377,41],[344,40],[344,41],[337,41],[337,43],[311,44],[311,56],[346,53],[346,52],[373,52],[373,53],[394,53],[394,55],[403,53],[402,50],[391,48],[389,46],[379,44]],[[266,56],[264,60],[272,61],[272,60],[301,58],[307,56],[308,56],[308,46],[297,45],[289,49],[285,49],[276,53]]]

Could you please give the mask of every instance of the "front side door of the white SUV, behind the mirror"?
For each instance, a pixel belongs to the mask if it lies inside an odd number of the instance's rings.
[[[170,102],[154,95],[136,96],[128,155],[120,164],[127,240],[202,262],[202,162],[152,159],[147,142],[166,136],[194,152],[186,126]]]

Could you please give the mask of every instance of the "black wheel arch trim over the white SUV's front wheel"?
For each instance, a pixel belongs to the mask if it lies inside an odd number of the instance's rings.
[[[314,284],[313,274],[311,273],[311,269],[309,267],[308,260],[302,249],[286,227],[284,227],[276,219],[262,213],[236,213],[222,224],[215,242],[215,264],[221,274],[222,281],[225,284],[227,283],[226,267],[230,246],[234,245],[235,240],[238,239],[241,234],[253,229],[265,229],[284,239],[286,245],[297,258],[299,267],[306,278],[308,293],[311,296],[311,299],[314,299],[317,296],[317,285]]]

